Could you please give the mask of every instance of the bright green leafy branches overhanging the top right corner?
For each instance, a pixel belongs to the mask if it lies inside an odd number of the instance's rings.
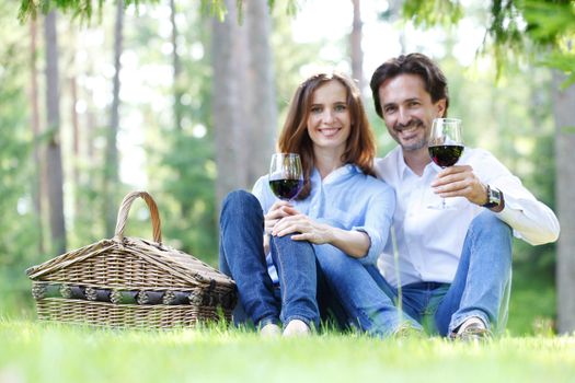
[[[459,0],[407,0],[403,12],[427,27],[456,24],[463,16]],[[497,74],[506,63],[529,58],[564,71],[570,76],[565,85],[575,81],[575,0],[492,0],[490,13],[486,33],[491,39],[485,39],[482,51],[493,54]],[[538,53],[545,58],[539,60]]]

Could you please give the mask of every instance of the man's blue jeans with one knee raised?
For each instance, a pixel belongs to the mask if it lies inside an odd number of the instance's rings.
[[[451,283],[418,282],[400,290],[378,270],[369,271],[380,291],[392,299],[401,297],[402,311],[432,333],[447,336],[470,316],[499,332],[507,322],[510,294],[511,230],[488,210],[475,217]]]

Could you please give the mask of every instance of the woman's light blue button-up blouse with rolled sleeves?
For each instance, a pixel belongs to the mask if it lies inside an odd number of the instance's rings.
[[[257,179],[252,193],[260,200],[264,214],[277,200],[269,188],[268,175]],[[367,233],[371,243],[368,253],[359,262],[375,265],[389,237],[395,195],[384,182],[365,175],[356,165],[346,164],[330,173],[323,181],[320,172],[314,169],[310,195],[303,200],[291,201],[291,205],[318,222]],[[332,245],[313,245],[315,252],[321,252],[323,246]],[[266,259],[269,276],[277,282],[269,254]]]

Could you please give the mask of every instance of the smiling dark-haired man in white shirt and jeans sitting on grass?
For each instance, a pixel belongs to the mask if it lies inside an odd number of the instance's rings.
[[[428,153],[434,118],[446,117],[447,81],[426,56],[390,59],[370,82],[375,106],[398,142],[376,160],[396,195],[392,237],[373,278],[403,312],[451,338],[505,327],[511,233],[538,245],[556,241],[559,222],[490,152],[465,148],[441,170]],[[445,198],[445,208],[436,208]],[[372,272],[373,274],[373,272]]]

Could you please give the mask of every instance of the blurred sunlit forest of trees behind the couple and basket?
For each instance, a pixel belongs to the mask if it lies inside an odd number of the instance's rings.
[[[386,59],[421,51],[447,74],[467,144],[495,153],[560,217],[559,246],[515,242],[509,317],[511,334],[554,332],[557,306],[574,305],[556,297],[575,279],[573,210],[559,209],[575,179],[557,165],[573,163],[574,129],[561,123],[575,120],[563,82],[573,61],[551,39],[517,44],[530,21],[513,1],[336,2],[254,0],[238,14],[235,1],[104,1],[89,19],[62,7],[19,20],[18,2],[0,0],[0,315],[33,316],[25,269],[113,236],[134,189],[157,200],[165,243],[216,266],[219,204],[267,172],[297,84],[318,69],[353,74],[384,155],[394,142],[367,81]],[[573,1],[534,3],[566,5],[573,35]],[[515,10],[499,35],[496,4]],[[542,65],[552,57],[555,69]],[[127,231],[151,239],[145,204]],[[568,313],[562,332],[575,329]]]

